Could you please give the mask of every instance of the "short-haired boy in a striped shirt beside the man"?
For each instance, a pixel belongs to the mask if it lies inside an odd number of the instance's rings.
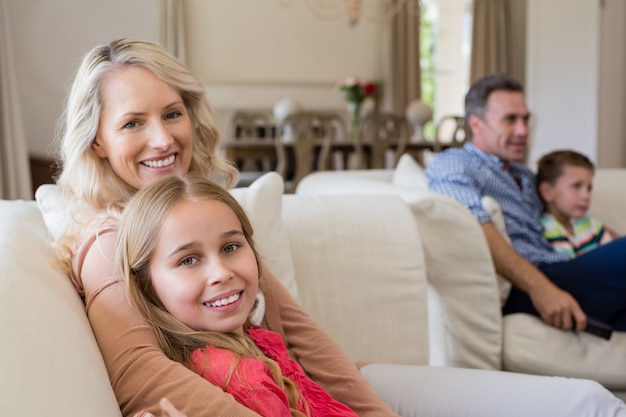
[[[594,166],[569,150],[544,155],[537,168],[537,190],[544,203],[544,237],[572,258],[610,242],[617,234],[587,215]]]

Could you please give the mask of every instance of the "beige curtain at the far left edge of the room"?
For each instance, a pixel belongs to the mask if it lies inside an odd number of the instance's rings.
[[[0,198],[33,198],[8,0],[0,0]]]

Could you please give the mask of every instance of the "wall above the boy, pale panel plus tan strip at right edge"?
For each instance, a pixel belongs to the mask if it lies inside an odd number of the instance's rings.
[[[570,148],[624,167],[623,0],[528,0],[528,162]],[[610,33],[610,35],[609,35]]]

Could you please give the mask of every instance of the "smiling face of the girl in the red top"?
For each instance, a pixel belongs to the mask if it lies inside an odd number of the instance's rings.
[[[259,286],[252,248],[221,201],[184,201],[167,218],[150,262],[167,310],[197,330],[243,335]]]

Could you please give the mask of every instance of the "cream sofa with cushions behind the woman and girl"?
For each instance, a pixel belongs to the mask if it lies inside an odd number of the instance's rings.
[[[351,358],[502,368],[496,278],[463,207],[282,190],[270,173],[233,194],[266,262]],[[54,186],[37,200],[0,200],[0,415],[119,416],[82,302],[51,260],[62,201]]]

